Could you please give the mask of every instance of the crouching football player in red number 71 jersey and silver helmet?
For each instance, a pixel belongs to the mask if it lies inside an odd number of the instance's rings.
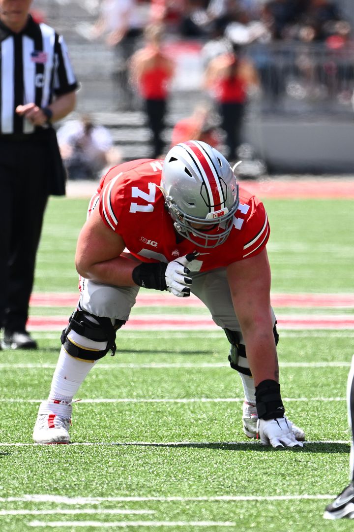
[[[72,399],[94,364],[116,350],[140,287],[195,294],[230,342],[243,381],[243,425],[273,447],[303,446],[304,432],[284,415],[270,304],[271,273],[263,204],[240,189],[216,149],[190,140],[164,161],[111,168],[91,198],[77,242],[80,299],[63,331],[37,443],[68,443]],[[119,349],[119,347],[118,347]]]

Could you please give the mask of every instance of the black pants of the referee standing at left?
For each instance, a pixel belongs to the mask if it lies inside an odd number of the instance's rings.
[[[41,139],[0,136],[0,325],[25,330],[48,200],[48,149]]]

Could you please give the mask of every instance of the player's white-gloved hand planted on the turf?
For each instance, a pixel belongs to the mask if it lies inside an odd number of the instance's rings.
[[[262,445],[275,448],[303,447],[303,442],[296,439],[290,421],[284,418],[258,419],[257,437]]]

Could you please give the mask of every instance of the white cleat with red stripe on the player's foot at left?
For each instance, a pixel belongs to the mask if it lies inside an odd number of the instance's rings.
[[[71,403],[44,401],[39,406],[33,440],[41,444],[70,443]]]

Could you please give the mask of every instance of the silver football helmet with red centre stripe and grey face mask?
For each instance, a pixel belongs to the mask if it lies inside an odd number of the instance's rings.
[[[220,152],[200,140],[177,144],[163,162],[161,190],[180,235],[206,248],[225,242],[239,197],[234,172]]]

